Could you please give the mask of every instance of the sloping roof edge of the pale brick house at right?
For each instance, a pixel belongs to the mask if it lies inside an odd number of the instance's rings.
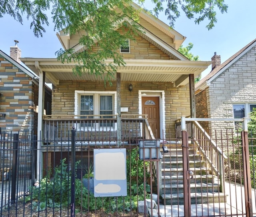
[[[195,85],[195,92],[198,93],[204,90],[210,82],[215,80],[220,74],[222,74],[225,70],[227,70],[230,66],[232,66],[235,62],[237,62],[242,56],[244,56],[247,52],[249,52],[254,46],[256,46],[256,39],[252,42],[247,44],[244,48],[236,52],[233,56],[231,56],[228,60],[224,63],[220,64],[216,68],[214,68],[207,76],[202,78],[198,83]]]

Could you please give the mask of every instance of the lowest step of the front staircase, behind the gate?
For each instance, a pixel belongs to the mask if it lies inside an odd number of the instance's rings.
[[[218,192],[208,192],[208,193],[191,193],[191,204],[202,204],[202,203],[225,203],[226,197],[224,193]],[[162,194],[162,203],[164,205],[183,205],[184,204],[184,194]]]

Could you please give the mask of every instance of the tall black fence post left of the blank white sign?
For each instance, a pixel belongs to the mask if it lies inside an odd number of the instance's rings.
[[[70,204],[70,213],[71,217],[75,217],[75,127],[72,127],[71,130],[71,204]]]

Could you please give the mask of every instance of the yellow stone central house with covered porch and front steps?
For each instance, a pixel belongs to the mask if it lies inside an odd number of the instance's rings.
[[[44,104],[44,82],[53,84],[51,114],[44,115],[43,108],[38,108],[38,129],[41,129],[38,130],[38,138],[42,139],[37,141],[36,159],[33,161],[36,163],[35,180],[40,183],[42,177],[53,174],[53,168],[64,159],[67,160],[67,170],[73,175],[76,171],[76,177],[82,180],[86,173],[90,175],[88,167],[97,163],[94,150],[125,149],[130,171],[134,168],[128,162],[129,159],[131,162],[132,150],[136,158],[134,171],[139,171],[138,163],[144,164],[141,177],[138,177],[138,173],[137,177],[131,172],[127,173],[126,187],[130,196],[135,193],[132,191],[132,180],[136,180],[137,188],[149,183],[152,188],[150,193],[158,195],[157,207],[160,207],[160,199],[164,209],[165,205],[182,205],[180,207],[184,210],[178,209],[178,216],[191,216],[190,203],[214,203],[213,207],[217,207],[215,204],[226,202],[227,195],[236,198],[231,194],[236,191],[225,192],[224,187],[225,175],[230,175],[223,171],[224,151],[227,148],[217,148],[196,121],[184,121],[187,116],[196,117],[194,78],[210,62],[190,61],[180,54],[177,50],[185,37],[143,10],[140,11],[140,25],[143,31],[136,41],[130,41],[128,46],[120,48],[126,66],[118,67],[112,86],[108,83],[105,85],[104,78],[92,74],[74,75],[74,62],[61,63],[53,58],[22,58],[22,62],[39,76],[39,105]],[[79,34],[60,32],[58,37],[64,49],[84,49],[78,44]],[[94,49],[97,49],[97,45]],[[111,60],[106,60],[108,62]],[[181,117],[182,121],[178,123]],[[195,138],[189,137],[193,131],[191,123],[196,127]],[[160,154],[161,143],[166,145],[169,153]],[[145,147],[145,144],[150,147]],[[149,157],[146,157],[146,151],[148,155],[151,154]],[[120,162],[113,155],[108,156],[104,161]],[[72,162],[75,166],[73,160],[79,161],[76,170],[72,168]],[[150,162],[147,167],[146,161]],[[108,173],[108,168],[105,171]],[[146,174],[149,175],[148,179]],[[66,176],[65,181],[69,180]],[[71,176],[68,175],[68,178]],[[139,182],[139,178],[143,180]],[[83,185],[90,189],[90,184]],[[81,196],[85,198],[82,191]],[[247,206],[249,203],[244,201]],[[81,210],[86,208],[83,206],[81,203]],[[210,213],[209,209],[205,213],[201,207],[202,212],[196,209],[194,216],[220,216],[220,211],[226,212],[226,209],[217,208],[218,214],[215,211]],[[209,208],[209,205],[204,207]],[[164,210],[161,216],[173,215],[174,209],[177,208],[171,207],[170,212]],[[87,210],[93,210],[89,203]],[[143,212],[146,214],[147,210]]]

